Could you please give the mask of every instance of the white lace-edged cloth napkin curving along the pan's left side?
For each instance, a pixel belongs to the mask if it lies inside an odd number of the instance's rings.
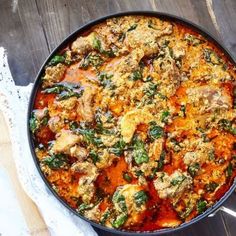
[[[20,183],[36,203],[51,235],[96,236],[90,224],[66,209],[47,189],[41,179],[27,140],[27,106],[32,84],[16,86],[7,62],[4,48],[0,47],[0,110],[9,126],[13,156]]]

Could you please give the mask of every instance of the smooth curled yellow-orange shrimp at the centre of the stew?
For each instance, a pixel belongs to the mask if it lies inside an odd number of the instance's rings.
[[[148,109],[135,109],[127,112],[121,119],[121,135],[126,143],[129,143],[134,135],[134,132],[139,124],[148,124],[153,121],[153,115]]]

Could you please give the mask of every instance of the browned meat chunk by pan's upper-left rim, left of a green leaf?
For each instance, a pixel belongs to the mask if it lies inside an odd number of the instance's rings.
[[[81,55],[85,55],[89,51],[93,50],[93,42],[96,37],[95,33],[91,33],[85,37],[77,38],[71,46],[72,52],[76,52]]]

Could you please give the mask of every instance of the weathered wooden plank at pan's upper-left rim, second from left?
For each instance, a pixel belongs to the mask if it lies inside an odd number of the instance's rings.
[[[107,13],[106,1],[37,0],[50,51],[71,32]]]

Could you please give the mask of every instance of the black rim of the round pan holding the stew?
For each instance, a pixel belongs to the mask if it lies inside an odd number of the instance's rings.
[[[75,32],[73,32],[71,35],[69,35],[56,49],[53,50],[53,52],[50,54],[50,56],[46,59],[46,61],[44,62],[43,66],[41,67],[41,69],[39,70],[38,75],[36,76],[36,80],[31,92],[31,96],[30,96],[30,100],[29,100],[29,106],[28,106],[28,115],[27,115],[27,132],[28,132],[28,141],[29,141],[29,146],[30,146],[30,150],[31,150],[31,154],[33,156],[35,165],[39,171],[39,174],[41,175],[42,179],[44,180],[45,184],[47,185],[47,187],[49,188],[49,190],[52,192],[52,194],[67,208],[69,209],[71,212],[73,212],[75,215],[77,215],[78,217],[82,218],[83,220],[89,222],[91,225],[100,228],[102,230],[111,232],[111,233],[118,233],[118,234],[123,234],[123,235],[140,235],[140,236],[146,236],[146,235],[161,235],[164,233],[173,233],[176,232],[178,230],[184,229],[200,220],[202,220],[203,218],[207,217],[208,215],[212,214],[213,212],[215,212],[225,201],[226,199],[231,195],[231,193],[234,191],[235,187],[236,187],[236,181],[234,181],[234,183],[232,184],[232,186],[230,187],[230,189],[224,194],[224,196],[216,203],[214,204],[211,208],[208,208],[203,214],[197,216],[196,218],[192,219],[190,222],[187,223],[183,223],[180,226],[176,227],[176,228],[167,228],[167,229],[161,229],[161,230],[156,230],[156,231],[151,231],[151,232],[130,232],[130,231],[123,231],[123,230],[118,230],[118,229],[111,229],[111,228],[107,228],[105,226],[102,226],[100,224],[94,223],[91,220],[88,220],[87,218],[81,216],[78,212],[76,212],[74,209],[72,209],[63,199],[60,198],[60,196],[53,190],[53,188],[50,186],[49,182],[47,181],[46,177],[44,176],[43,172],[41,171],[40,167],[39,167],[39,163],[38,163],[38,159],[36,157],[35,151],[34,151],[34,143],[33,143],[33,138],[32,138],[32,134],[30,132],[29,129],[29,119],[30,119],[30,114],[31,111],[33,110],[33,105],[34,105],[34,101],[35,101],[35,97],[36,97],[36,93],[37,90],[40,86],[40,78],[43,75],[43,71],[44,71],[44,67],[45,65],[51,60],[51,58],[60,50],[62,50],[63,48],[65,48],[70,42],[72,42],[73,40],[75,40],[81,33],[85,32],[86,30],[88,30],[90,27],[103,22],[106,19],[112,18],[112,17],[119,17],[119,16],[127,16],[127,15],[144,15],[144,16],[154,16],[154,17],[158,17],[158,18],[162,18],[162,19],[166,19],[166,20],[170,20],[172,22],[176,22],[176,23],[180,23],[183,25],[186,25],[187,27],[193,29],[194,31],[202,34],[203,36],[205,36],[209,41],[212,41],[218,48],[221,49],[221,51],[226,55],[226,57],[228,58],[228,60],[230,60],[233,64],[236,64],[236,61],[234,60],[233,56],[230,55],[230,52],[214,37],[212,36],[210,33],[208,33],[205,29],[199,27],[198,25],[185,20],[181,17],[178,16],[174,16],[171,14],[167,14],[167,13],[161,13],[161,12],[154,12],[154,11],[131,11],[131,12],[122,12],[122,13],[116,13],[116,14],[112,14],[112,15],[108,15],[105,17],[101,17],[99,19],[93,20],[87,24],[85,24],[84,26],[80,27],[79,29],[77,29]]]

